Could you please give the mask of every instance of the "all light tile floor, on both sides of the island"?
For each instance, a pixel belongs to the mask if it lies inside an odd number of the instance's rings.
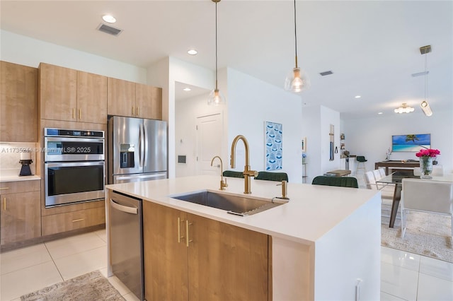
[[[55,240],[0,254],[0,300],[100,270],[107,273],[105,230]],[[137,300],[115,277],[108,281]],[[453,264],[381,247],[381,300],[453,300]]]

